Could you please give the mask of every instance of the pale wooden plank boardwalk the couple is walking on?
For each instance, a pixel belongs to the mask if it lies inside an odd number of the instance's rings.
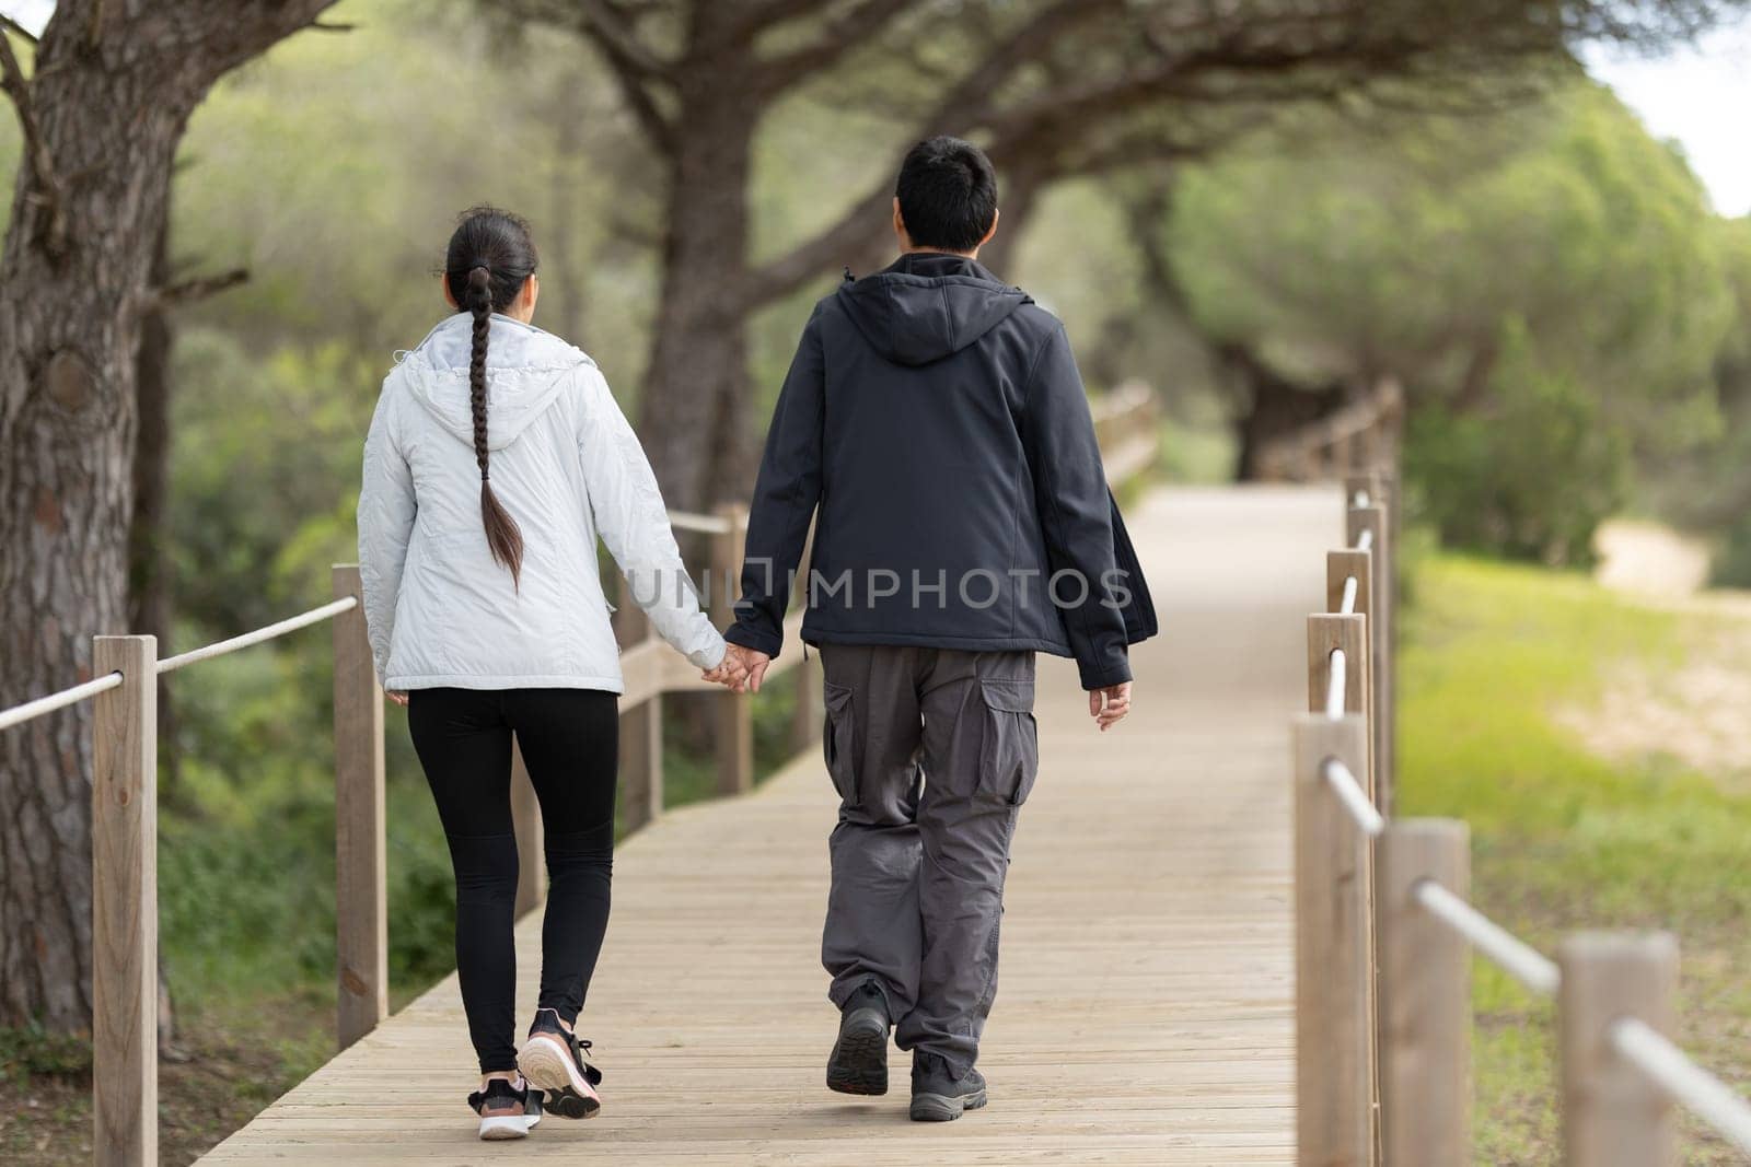
[[[1306,703],[1304,618],[1324,605],[1341,500],[1157,492],[1129,518],[1164,635],[1136,649],[1136,712],[1107,737],[1073,668],[1042,661],[1042,772],[1009,884],[988,1109],[907,1122],[902,1055],[884,1099],[825,1090],[833,798],[807,758],[622,849],[580,1025],[608,1074],[601,1118],[476,1141],[448,978],[208,1160],[1290,1164],[1287,726]],[[527,1011],[539,917],[518,947]]]

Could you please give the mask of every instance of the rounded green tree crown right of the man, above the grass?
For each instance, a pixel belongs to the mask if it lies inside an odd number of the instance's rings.
[[[1460,546],[1583,562],[1632,457],[1721,429],[1719,220],[1588,82],[1490,117],[1308,114],[1191,170],[1171,241],[1217,341],[1310,385],[1404,381],[1404,474]]]

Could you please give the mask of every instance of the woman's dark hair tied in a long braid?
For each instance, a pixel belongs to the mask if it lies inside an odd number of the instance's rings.
[[[522,583],[524,532],[494,497],[487,453],[487,332],[492,313],[504,311],[536,273],[536,243],[529,224],[494,206],[462,212],[450,236],[443,278],[462,311],[475,315],[475,350],[468,362],[468,401],[475,409],[475,462],[480,464],[480,520],[494,562],[508,567],[511,584]]]

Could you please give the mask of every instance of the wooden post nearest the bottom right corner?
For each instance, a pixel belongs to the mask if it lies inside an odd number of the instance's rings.
[[[1613,1022],[1672,1031],[1677,943],[1669,933],[1578,933],[1557,950],[1562,1144],[1569,1167],[1677,1162],[1672,1104],[1611,1048]]]

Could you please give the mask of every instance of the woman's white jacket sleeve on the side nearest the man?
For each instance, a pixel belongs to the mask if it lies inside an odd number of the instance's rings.
[[[723,661],[723,637],[699,611],[699,593],[681,562],[644,448],[595,366],[581,366],[580,378],[585,408],[578,457],[595,530],[657,635],[697,668],[716,668]]]

